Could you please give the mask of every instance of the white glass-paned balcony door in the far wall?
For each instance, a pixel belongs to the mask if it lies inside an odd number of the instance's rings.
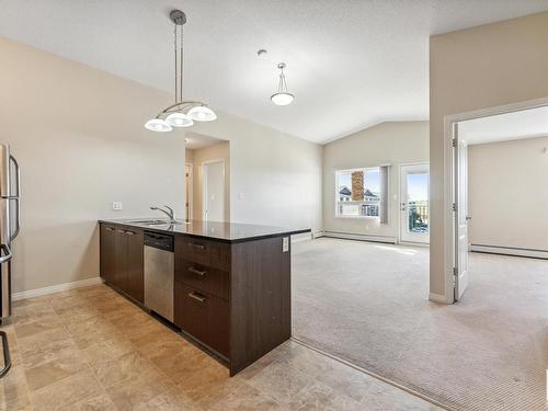
[[[400,167],[400,241],[430,242],[430,165]]]

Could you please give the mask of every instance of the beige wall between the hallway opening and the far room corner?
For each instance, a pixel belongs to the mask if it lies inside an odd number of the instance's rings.
[[[321,230],[323,147],[219,116],[195,133],[230,141],[230,221]]]

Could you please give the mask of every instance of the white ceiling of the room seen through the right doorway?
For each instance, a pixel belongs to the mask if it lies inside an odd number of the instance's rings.
[[[458,123],[468,145],[548,136],[548,106]]]

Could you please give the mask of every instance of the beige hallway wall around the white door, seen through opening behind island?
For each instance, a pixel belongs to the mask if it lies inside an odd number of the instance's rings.
[[[192,151],[192,173],[193,173],[193,215],[195,220],[203,219],[203,170],[202,164],[205,161],[220,160],[225,161],[225,221],[230,221],[230,142],[222,141],[210,146],[198,148]]]

